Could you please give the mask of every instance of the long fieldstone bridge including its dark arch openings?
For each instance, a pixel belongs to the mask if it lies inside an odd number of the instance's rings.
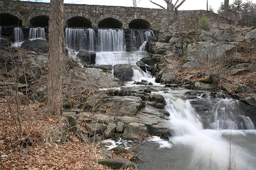
[[[0,0],[0,26],[46,27],[49,3]],[[67,27],[152,29],[160,32],[177,30],[173,11],[123,6],[64,4]],[[198,20],[207,16],[212,25],[232,23],[205,10],[179,11],[183,30],[198,29]]]

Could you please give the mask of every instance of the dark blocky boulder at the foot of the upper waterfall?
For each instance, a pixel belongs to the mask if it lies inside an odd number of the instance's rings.
[[[114,65],[113,74],[123,82],[131,81],[133,77],[133,67],[128,64],[116,64]]]

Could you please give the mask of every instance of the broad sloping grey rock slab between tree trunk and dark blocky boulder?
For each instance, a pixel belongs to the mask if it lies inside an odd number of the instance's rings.
[[[107,74],[98,68],[80,68],[73,67],[69,71],[70,82],[80,82],[79,84],[88,84],[91,82],[101,88],[119,87],[122,82],[113,76]]]

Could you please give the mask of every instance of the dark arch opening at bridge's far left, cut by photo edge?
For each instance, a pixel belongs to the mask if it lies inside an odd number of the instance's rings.
[[[12,14],[0,14],[0,26],[22,26],[22,20]]]

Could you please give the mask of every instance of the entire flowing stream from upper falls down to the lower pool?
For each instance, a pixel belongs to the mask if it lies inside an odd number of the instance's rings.
[[[129,64],[134,68],[133,81],[147,80],[153,84],[151,87],[163,87],[154,82],[150,73],[145,73],[136,65],[138,60],[148,55],[144,51],[145,41],[147,36],[154,36],[151,31],[139,31],[139,38],[135,36],[135,31],[131,31],[129,42],[120,29],[99,29],[98,37],[91,29],[68,31],[76,36],[75,40],[66,32],[67,40],[71,42],[68,45],[73,45],[73,49],[96,51],[94,65]],[[77,43],[79,35],[80,43]],[[126,50],[127,44],[130,44],[130,51]],[[134,85],[133,81],[126,82],[123,88],[138,90],[148,87]],[[168,141],[152,136],[140,143],[135,149],[135,153],[141,152],[138,155],[142,160],[137,166],[139,170],[255,170],[256,130],[250,118],[239,109],[239,101],[228,97],[224,99],[221,95],[186,99],[184,89],[152,93],[166,99],[165,110],[170,113],[169,129],[173,136],[169,136]],[[203,98],[214,103],[214,108],[208,111],[210,118],[207,125],[202,123],[190,103]],[[115,143],[126,148],[132,144],[122,140]]]

